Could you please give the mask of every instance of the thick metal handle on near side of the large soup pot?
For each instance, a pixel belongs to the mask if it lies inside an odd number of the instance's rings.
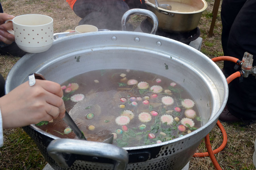
[[[67,155],[71,154],[84,155],[86,158],[89,156],[92,160],[99,158],[114,160],[114,170],[124,170],[129,160],[128,152],[123,148],[108,143],[79,139],[52,140],[47,147],[47,152],[63,168],[69,168],[74,163],[75,160],[72,162],[68,159]]]

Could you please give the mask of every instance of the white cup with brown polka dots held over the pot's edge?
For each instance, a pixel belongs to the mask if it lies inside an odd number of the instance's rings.
[[[7,22],[13,22],[13,30],[7,30],[15,36],[15,42],[26,52],[37,53],[48,50],[53,43],[53,19],[46,15],[26,14],[16,16]]]

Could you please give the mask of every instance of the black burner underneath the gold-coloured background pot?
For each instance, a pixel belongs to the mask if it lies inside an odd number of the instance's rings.
[[[144,33],[150,33],[152,30],[153,25],[147,20],[143,20],[141,22],[141,30]],[[162,37],[167,37],[170,39],[174,39],[176,41],[179,42],[183,42],[184,44],[189,44],[191,41],[194,41],[195,39],[197,39],[200,36],[200,29],[198,27],[196,27],[195,29],[193,29],[192,31],[188,31],[188,32],[183,32],[183,33],[179,33],[179,32],[165,32],[162,30],[157,30],[156,31],[156,35],[160,35]]]

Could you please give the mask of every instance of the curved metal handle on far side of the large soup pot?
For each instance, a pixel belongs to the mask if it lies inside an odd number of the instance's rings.
[[[133,14],[141,14],[141,15],[146,15],[146,16],[150,17],[153,20],[153,28],[152,28],[151,34],[156,34],[156,31],[158,29],[158,18],[156,16],[156,14],[154,14],[150,10],[139,9],[139,8],[130,9],[123,14],[122,31],[126,31],[125,24],[129,20],[129,16],[133,15]]]

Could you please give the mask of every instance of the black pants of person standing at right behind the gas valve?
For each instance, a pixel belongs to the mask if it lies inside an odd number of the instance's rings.
[[[253,55],[256,65],[256,1],[223,0],[221,6],[222,47],[224,56],[243,58],[244,52]],[[224,74],[238,70],[235,63],[224,61]],[[227,106],[229,111],[244,120],[256,120],[256,79],[249,75],[239,82],[236,78],[229,84]]]

